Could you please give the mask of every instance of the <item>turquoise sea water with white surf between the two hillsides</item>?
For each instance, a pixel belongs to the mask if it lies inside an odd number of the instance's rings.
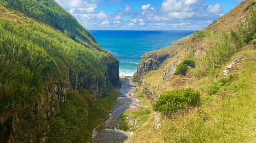
[[[141,55],[147,51],[169,46],[175,40],[194,31],[90,31],[97,42],[120,61],[122,75],[137,71]]]

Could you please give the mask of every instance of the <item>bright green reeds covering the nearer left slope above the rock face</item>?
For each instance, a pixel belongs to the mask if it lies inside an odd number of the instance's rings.
[[[21,1],[15,2],[18,3],[8,1],[8,6],[16,6]],[[29,2],[23,2],[20,9]],[[31,1],[33,7],[29,7],[32,10],[38,7],[34,2],[37,1]],[[47,8],[45,11],[53,9],[56,4],[52,1],[53,6],[45,7],[48,3],[43,5],[42,2],[40,9]],[[74,73],[95,75],[99,80],[104,80],[107,64],[116,60],[113,55],[95,49],[95,43],[81,45],[48,25],[16,12],[13,14],[12,9],[2,6],[0,9],[6,15],[5,19],[0,18],[0,95],[3,95],[0,97],[0,112],[20,103],[39,100],[39,92],[45,83],[53,78],[65,80],[68,68]],[[32,10],[30,13],[33,13]],[[61,13],[67,14],[63,10],[58,11],[58,14]],[[19,20],[13,21],[13,17]]]

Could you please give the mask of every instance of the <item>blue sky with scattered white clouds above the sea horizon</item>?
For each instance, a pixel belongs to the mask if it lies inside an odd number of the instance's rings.
[[[242,0],[55,0],[89,30],[200,30]]]

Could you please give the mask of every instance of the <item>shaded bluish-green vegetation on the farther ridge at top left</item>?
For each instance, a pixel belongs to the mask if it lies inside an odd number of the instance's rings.
[[[0,4],[5,7],[17,8],[33,18],[53,25],[84,46],[97,43],[92,34],[54,0],[9,0],[0,1]],[[100,46],[95,46],[95,48],[102,50]]]

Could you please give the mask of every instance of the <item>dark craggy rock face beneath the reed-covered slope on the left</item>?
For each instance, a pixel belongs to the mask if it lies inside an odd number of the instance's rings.
[[[3,137],[0,142],[47,142],[50,128],[47,121],[57,115],[59,103],[66,101],[67,92],[87,89],[98,98],[105,92],[108,83],[120,86],[119,61],[113,61],[107,64],[108,67],[106,67],[107,70],[103,78],[95,74],[72,70],[66,65],[65,80],[51,77],[41,89],[39,99],[34,99],[30,103],[19,105],[0,114],[0,137]],[[33,129],[31,119],[26,116],[28,108],[45,120],[38,131]]]

